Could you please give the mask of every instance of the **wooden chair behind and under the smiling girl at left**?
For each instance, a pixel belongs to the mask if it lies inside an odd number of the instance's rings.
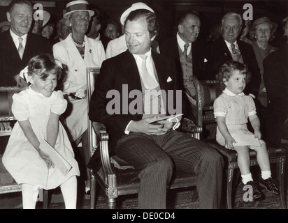
[[[12,126],[15,123],[15,118],[11,112],[11,105],[13,102],[12,96],[18,93],[20,89],[17,87],[0,87],[0,122],[9,122],[11,125],[10,130],[0,131],[0,137],[9,136],[12,132]],[[15,182],[13,177],[8,173],[2,164],[2,157],[0,163],[0,194],[8,194],[12,192],[21,192],[22,185]],[[39,200],[41,201],[41,195]],[[43,208],[48,208],[48,190],[43,190]]]

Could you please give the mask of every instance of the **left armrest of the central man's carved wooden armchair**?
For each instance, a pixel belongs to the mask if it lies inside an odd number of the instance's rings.
[[[106,176],[108,174],[114,174],[111,163],[110,163],[110,155],[108,151],[108,133],[106,132],[106,127],[102,123],[92,122],[93,130],[96,134],[96,137],[99,139],[99,148],[101,155],[101,162],[103,171]]]

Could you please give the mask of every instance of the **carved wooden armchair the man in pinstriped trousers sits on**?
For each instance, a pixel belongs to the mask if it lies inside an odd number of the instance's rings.
[[[95,75],[99,74],[99,68],[87,68],[87,100],[89,106],[89,98],[94,91]],[[88,108],[89,111],[89,108]],[[108,208],[116,208],[116,199],[119,196],[127,194],[137,194],[140,179],[138,171],[128,166],[124,160],[120,160],[116,155],[110,156],[108,153],[108,133],[101,123],[89,120],[89,154],[92,156],[96,149],[101,152],[102,167],[99,171],[90,170],[90,207],[95,208],[96,183],[105,191],[108,197]],[[182,130],[189,132],[192,137],[199,139],[201,128],[188,119],[182,126]],[[169,189],[196,187],[197,178],[195,174],[187,174],[184,172],[176,172],[168,185]],[[195,197],[194,197],[195,198]]]

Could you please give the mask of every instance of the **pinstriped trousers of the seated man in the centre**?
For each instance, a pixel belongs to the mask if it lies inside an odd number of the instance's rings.
[[[224,162],[203,141],[178,131],[161,136],[130,132],[117,142],[115,153],[140,170],[139,209],[166,208],[166,185],[175,169],[196,174],[199,208],[219,208]]]

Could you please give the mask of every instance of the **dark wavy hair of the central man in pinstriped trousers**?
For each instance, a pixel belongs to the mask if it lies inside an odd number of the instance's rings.
[[[127,16],[124,26],[126,26],[126,23],[128,20],[134,21],[134,20],[140,19],[141,17],[145,17],[145,20],[147,21],[150,38],[152,38],[153,36],[156,36],[159,33],[159,24],[158,24],[155,13],[152,13],[150,12],[150,10],[147,10],[147,9],[138,9],[138,10],[132,11]]]

